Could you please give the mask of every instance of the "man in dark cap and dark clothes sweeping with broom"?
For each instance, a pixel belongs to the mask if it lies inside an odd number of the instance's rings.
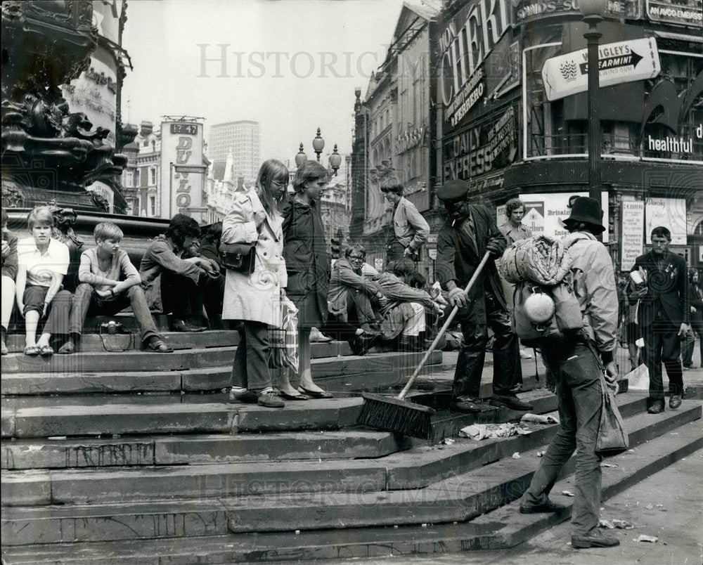
[[[437,191],[449,221],[437,235],[437,278],[449,291],[452,306],[459,306],[457,320],[464,336],[454,372],[452,407],[463,412],[479,412],[479,388],[488,343],[487,326],[494,332],[494,374],[491,404],[512,410],[531,410],[511,390],[522,378],[518,339],[510,327],[510,313],[496,271],[496,257],[503,254],[505,237],[494,214],[485,206],[467,201],[469,185],[448,181]],[[486,251],[491,259],[476,284],[464,288]]]

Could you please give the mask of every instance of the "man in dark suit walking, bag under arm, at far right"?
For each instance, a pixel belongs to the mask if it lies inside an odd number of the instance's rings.
[[[632,268],[643,283],[630,293],[630,304],[640,301],[638,323],[645,340],[645,363],[650,373],[647,412],[664,412],[662,363],[669,377],[669,408],[681,406],[683,368],[681,337],[688,331],[688,274],[685,259],[669,251],[671,232],[659,226],[652,230],[652,250],[640,255]]]

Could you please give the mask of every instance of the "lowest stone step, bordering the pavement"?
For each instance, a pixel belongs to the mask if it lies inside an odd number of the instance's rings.
[[[604,469],[602,500],[608,500],[634,484],[652,476],[683,457],[695,453],[703,447],[703,436],[699,422],[685,424],[678,428],[676,436],[662,436],[650,443],[638,446],[634,452],[612,457],[617,469]],[[536,462],[534,464],[536,467]],[[555,491],[572,490],[573,486],[560,481]],[[569,505],[569,499],[562,497],[559,502]],[[212,510],[212,507],[211,507]],[[213,512],[215,512],[213,510]],[[368,511],[369,513],[372,510]],[[565,514],[525,515],[517,511],[517,503],[486,514],[486,520],[479,517],[456,524],[434,524],[432,521],[421,525],[394,527],[349,528],[346,530],[328,529],[316,531],[257,532],[210,535],[206,531],[221,532],[224,511],[219,510],[219,525],[208,528],[212,522],[204,524],[193,517],[184,524],[179,521],[162,521],[160,533],[171,533],[161,538],[114,541],[82,541],[76,543],[41,543],[37,545],[4,546],[3,552],[8,565],[171,565],[231,564],[245,562],[301,562],[323,561],[340,563],[353,559],[373,559],[375,557],[395,557],[402,562],[425,556],[437,560],[455,555],[456,559],[471,559],[467,552],[512,547],[524,543],[536,533],[567,519]],[[107,521],[107,520],[106,520]],[[193,523],[200,526],[200,533],[193,537],[183,535],[186,527]],[[71,530],[71,524],[77,528]],[[116,527],[119,524],[113,522]],[[294,522],[295,524],[295,522]],[[80,521],[65,521],[67,533],[82,533]],[[127,529],[124,527],[123,529]],[[80,539],[81,536],[78,535]],[[612,550],[611,550],[612,551]],[[605,557],[608,557],[603,554]],[[463,556],[463,557],[462,557]],[[480,559],[480,554],[476,559]],[[611,556],[612,557],[612,556]]]

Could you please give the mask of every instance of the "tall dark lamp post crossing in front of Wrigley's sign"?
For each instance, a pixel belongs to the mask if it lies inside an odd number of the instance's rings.
[[[579,9],[588,31],[583,34],[588,45],[588,196],[600,202],[600,79],[598,76],[598,24],[603,20],[607,0],[579,0]]]

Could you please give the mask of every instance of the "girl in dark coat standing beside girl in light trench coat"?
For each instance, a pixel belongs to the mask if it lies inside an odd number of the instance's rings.
[[[331,268],[320,216],[320,197],[328,179],[327,169],[321,164],[304,162],[293,179],[295,196],[283,209],[283,257],[288,272],[286,291],[298,309],[298,392],[304,399],[332,397],[313,382],[310,368],[310,330],[323,327],[328,313]],[[280,391],[290,394],[288,371],[283,369],[282,373]],[[297,399],[300,397],[296,395]]]

